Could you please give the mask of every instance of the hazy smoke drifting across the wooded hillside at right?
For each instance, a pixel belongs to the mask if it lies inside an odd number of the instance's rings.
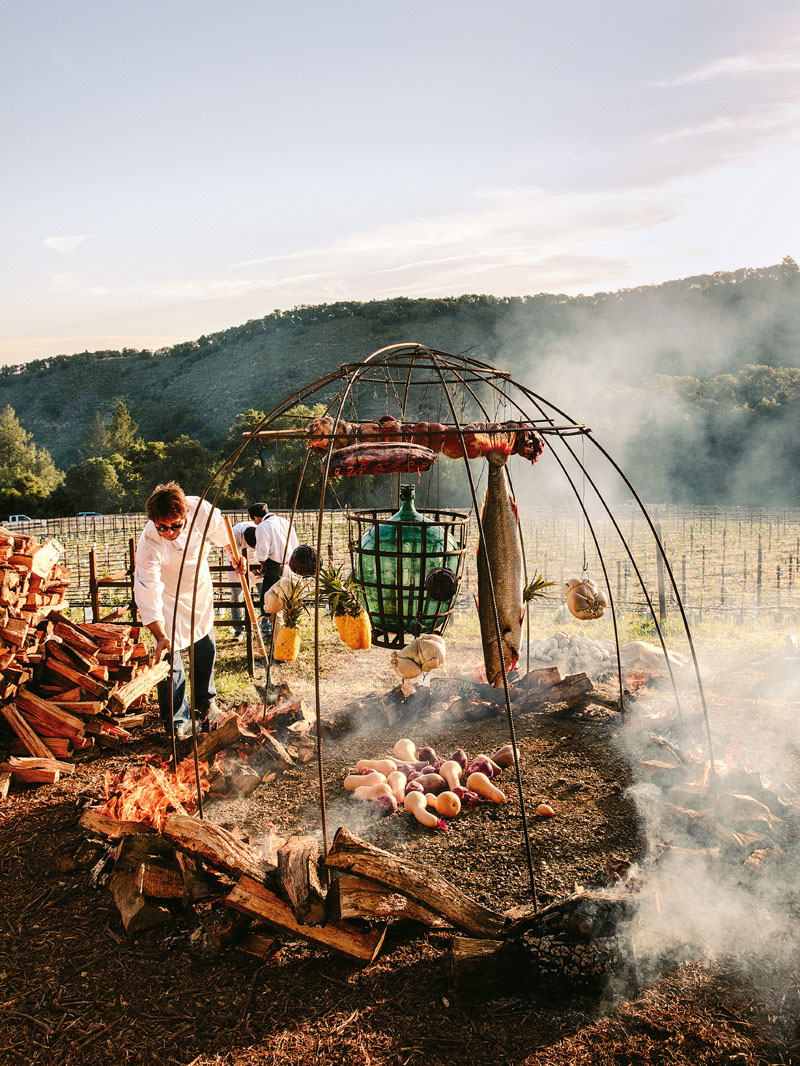
[[[785,504],[800,492],[800,372],[778,368],[799,362],[798,284],[787,262],[534,297],[503,325],[496,362],[589,425],[649,502]],[[537,487],[560,502],[558,480],[538,473]]]

